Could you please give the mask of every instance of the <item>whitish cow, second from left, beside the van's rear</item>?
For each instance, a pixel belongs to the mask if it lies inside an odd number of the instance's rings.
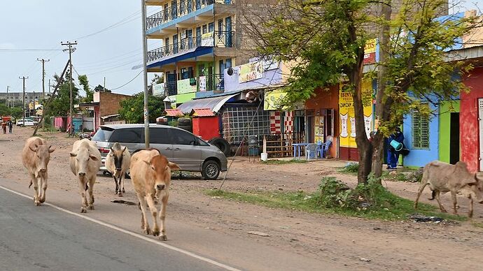
[[[80,189],[80,198],[82,207],[80,212],[87,212],[87,207],[94,210],[94,183],[96,182],[97,171],[101,167],[101,153],[94,142],[83,139],[73,143],[72,152],[70,153],[70,163],[73,175],[78,177]],[[87,195],[85,194],[87,191]],[[88,206],[87,206],[88,196]]]

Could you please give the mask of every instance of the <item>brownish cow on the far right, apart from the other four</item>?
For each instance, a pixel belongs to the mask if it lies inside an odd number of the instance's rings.
[[[440,205],[441,212],[447,212],[440,201],[440,193],[451,192],[453,200],[454,214],[457,214],[456,209],[456,193],[461,193],[466,198],[470,199],[470,212],[468,217],[473,216],[473,200],[478,203],[483,203],[482,183],[477,174],[472,174],[468,171],[466,163],[459,161],[456,165],[444,163],[441,161],[432,161],[424,166],[423,177],[421,179],[421,186],[414,201],[414,208],[418,207],[418,200],[423,192],[424,187],[429,185],[434,192],[437,204]]]

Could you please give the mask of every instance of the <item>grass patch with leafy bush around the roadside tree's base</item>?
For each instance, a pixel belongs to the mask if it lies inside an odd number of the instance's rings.
[[[377,186],[376,186],[377,185]],[[249,193],[207,190],[208,196],[217,196],[265,207],[299,210],[311,213],[342,214],[349,217],[398,221],[412,214],[423,214],[444,219],[465,221],[466,217],[437,212],[437,207],[419,203],[415,210],[412,200],[387,191],[379,184],[367,184],[349,189],[334,177],[325,177],[318,191],[253,191]]]

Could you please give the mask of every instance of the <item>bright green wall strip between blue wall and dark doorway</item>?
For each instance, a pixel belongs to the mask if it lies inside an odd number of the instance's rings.
[[[451,112],[459,112],[459,101],[447,101],[440,105],[440,161],[449,163]]]

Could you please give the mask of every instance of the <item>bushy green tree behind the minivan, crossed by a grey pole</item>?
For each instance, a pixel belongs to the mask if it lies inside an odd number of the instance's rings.
[[[127,123],[144,123],[144,92],[135,94],[130,98],[120,101],[119,115]],[[162,115],[165,105],[161,98],[148,96],[149,122],[156,122],[156,118]]]

